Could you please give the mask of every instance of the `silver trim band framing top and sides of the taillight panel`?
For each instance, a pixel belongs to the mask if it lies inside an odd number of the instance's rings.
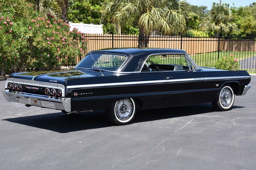
[[[24,85],[32,85],[32,86],[39,86],[39,87],[48,87],[54,89],[60,89],[62,91],[62,97],[65,96],[65,86],[62,84],[57,83],[48,83],[48,82],[40,82],[35,80],[26,80],[26,79],[19,79],[19,78],[8,78],[6,80],[5,88],[8,88],[8,83],[19,83]]]

